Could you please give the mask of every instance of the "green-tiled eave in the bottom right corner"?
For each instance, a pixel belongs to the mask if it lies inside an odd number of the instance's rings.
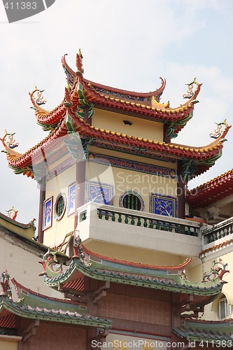
[[[185,338],[190,342],[203,342],[204,346],[217,347],[223,349],[224,344],[228,348],[233,347],[233,320],[227,321],[194,321],[184,320],[181,327],[173,329],[174,333],[179,337]],[[228,342],[228,343],[227,343]]]

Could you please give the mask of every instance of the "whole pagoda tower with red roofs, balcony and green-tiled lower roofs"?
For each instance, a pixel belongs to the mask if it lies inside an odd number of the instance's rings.
[[[161,102],[164,78],[153,92],[130,92],[84,78],[80,51],[75,70],[66,55],[62,66],[67,85],[59,106],[44,109],[37,87],[29,94],[47,137],[24,154],[15,151],[13,134],[1,141],[15,174],[41,186],[38,244],[50,247],[41,274],[66,301],[49,302],[13,280],[21,301],[12,304],[5,278],[1,305],[22,318],[77,326],[82,350],[135,338],[150,342],[141,349],[154,349],[155,341],[189,349],[192,335],[202,342],[205,329],[211,332],[211,323],[197,325],[197,318],[222,292],[228,270],[225,264],[211,278],[196,275],[207,225],[188,215],[186,185],[220,158],[230,126],[220,123],[207,146],[176,144],[198,102],[196,79],[185,103],[171,108]],[[191,334],[192,327],[199,331]]]

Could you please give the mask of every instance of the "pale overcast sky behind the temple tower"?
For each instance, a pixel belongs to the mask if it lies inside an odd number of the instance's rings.
[[[85,78],[125,90],[148,92],[167,87],[162,102],[183,104],[185,83],[203,83],[199,104],[173,141],[204,146],[219,123],[232,124],[232,0],[56,0],[48,10],[8,24],[0,3],[0,137],[15,132],[24,153],[46,136],[36,125],[28,92],[45,89],[46,109],[62,102],[66,80],[61,57],[75,68],[81,48]],[[209,172],[190,183],[198,186],[233,167],[232,130],[223,156]],[[3,149],[3,148],[1,148]],[[36,182],[15,175],[0,154],[0,211],[14,205],[17,220],[38,216]]]

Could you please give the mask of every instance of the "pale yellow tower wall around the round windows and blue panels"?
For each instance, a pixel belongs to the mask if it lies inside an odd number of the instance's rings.
[[[132,162],[141,162],[148,165],[155,165],[158,167],[167,167],[169,169],[176,169],[176,164],[171,162],[164,162],[162,160],[154,160],[152,158],[140,157],[129,153],[120,153],[108,149],[90,148],[90,152],[104,153],[104,155],[111,155],[115,158],[127,159]],[[59,166],[60,163],[67,160],[70,155],[66,155],[52,165],[50,171]],[[43,243],[47,246],[58,246],[64,240],[64,237],[74,228],[74,214],[70,216],[68,213],[68,190],[69,185],[76,181],[76,164],[71,165],[64,172],[58,174],[53,179],[46,183],[45,200],[53,198],[53,212],[52,212],[52,227],[44,230]],[[134,170],[122,169],[118,167],[109,167],[108,165],[100,165],[95,162],[86,163],[86,181],[95,181],[106,183],[113,186],[113,193],[115,198],[113,205],[119,207],[120,196],[126,191],[134,191],[139,193],[144,201],[144,211],[150,212],[150,193],[160,193],[161,195],[169,195],[176,197],[177,182],[176,179],[166,178],[164,176],[157,176],[154,174],[146,174],[143,172],[136,172]],[[66,211],[64,216],[57,221],[55,218],[54,205],[59,193],[66,195]],[[87,202],[86,194],[86,202]]]

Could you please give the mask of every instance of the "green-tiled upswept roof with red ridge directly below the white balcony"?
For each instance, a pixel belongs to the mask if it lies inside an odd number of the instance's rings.
[[[184,278],[183,269],[188,265],[190,259],[182,265],[173,267],[152,267],[133,262],[125,262],[106,258],[102,255],[92,253],[83,246],[76,246],[76,255],[73,256],[69,268],[64,273],[54,272],[45,268],[45,283],[52,288],[62,289],[64,283],[82,279],[84,276],[100,281],[111,281],[114,283],[141,286],[169,290],[183,295],[199,295],[201,299],[194,300],[196,304],[202,304],[209,298],[221,293],[223,281],[217,277],[205,283],[194,283]],[[46,265],[46,263],[45,263]]]

